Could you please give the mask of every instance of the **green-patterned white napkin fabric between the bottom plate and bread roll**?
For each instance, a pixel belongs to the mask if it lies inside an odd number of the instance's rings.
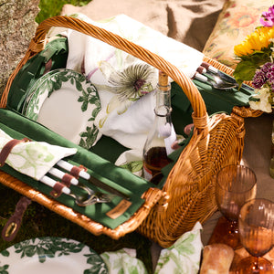
[[[179,237],[174,245],[170,248],[163,248],[154,274],[198,273],[203,249],[201,229],[201,224],[197,222],[195,227]],[[129,254],[129,250],[104,252],[100,254],[100,257],[106,263],[110,274],[148,273],[142,261],[136,258],[134,254]]]

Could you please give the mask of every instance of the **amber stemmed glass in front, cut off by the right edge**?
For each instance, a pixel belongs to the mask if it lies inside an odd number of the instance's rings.
[[[238,217],[239,237],[251,255],[237,265],[237,273],[274,273],[271,262],[262,258],[273,247],[274,204],[253,199],[242,206]]]

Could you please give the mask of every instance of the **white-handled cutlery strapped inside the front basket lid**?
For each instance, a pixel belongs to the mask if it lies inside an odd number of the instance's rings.
[[[110,203],[112,199],[117,196],[120,196],[121,198],[126,200],[130,199],[129,195],[125,195],[121,191],[117,190],[116,188],[111,187],[109,184],[105,184],[101,182],[100,180],[98,180],[97,178],[92,177],[89,173],[87,173],[83,169],[78,168],[78,172],[76,176],[74,176],[72,172],[74,166],[71,163],[68,163],[64,160],[59,160],[57,165],[61,167],[62,169],[68,171],[70,174],[66,174],[56,167],[52,167],[48,171],[48,174],[51,174],[57,177],[58,179],[61,179],[60,180],[61,182],[64,182],[65,181],[64,178],[66,178],[67,183],[60,183],[59,181],[56,181],[47,175],[44,175],[40,179],[40,182],[43,184],[47,184],[53,189],[55,189],[55,187],[59,185],[60,192],[65,195],[72,196],[75,199],[76,204],[79,206],[88,206],[88,205],[94,205],[97,203]],[[90,189],[90,187],[87,186],[86,184],[81,184],[79,180],[76,178],[78,176],[108,193],[105,194],[98,191],[95,192],[94,190]],[[84,192],[82,194],[72,193],[69,188],[70,184],[78,186]]]

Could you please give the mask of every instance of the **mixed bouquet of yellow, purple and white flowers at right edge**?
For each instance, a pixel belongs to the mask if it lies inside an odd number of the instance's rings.
[[[274,5],[260,17],[258,26],[234,47],[239,59],[234,77],[241,85],[252,80],[256,94],[249,101],[253,110],[271,112],[274,106]]]

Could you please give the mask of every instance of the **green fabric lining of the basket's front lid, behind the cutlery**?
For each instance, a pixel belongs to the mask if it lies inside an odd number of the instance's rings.
[[[143,204],[143,200],[141,198],[142,193],[145,192],[149,187],[155,186],[145,181],[144,179],[115,166],[113,163],[102,159],[100,156],[94,153],[90,153],[78,145],[69,142],[65,138],[59,136],[57,133],[47,130],[47,128],[44,126],[38,124],[37,122],[28,120],[15,111],[0,109],[0,121],[1,129],[14,138],[21,139],[23,137],[28,137],[36,141],[44,141],[60,146],[78,148],[78,153],[73,156],[69,156],[67,159],[68,162],[79,164],[81,163],[85,165],[89,168],[89,173],[94,177],[97,177],[102,182],[110,184],[125,194],[130,195],[132,205],[123,215],[117,217],[116,219],[111,219],[105,214],[121,201],[120,197],[115,198],[109,204],[90,205],[87,207],[80,207],[75,205],[73,198],[68,195],[60,195],[57,198],[60,203],[72,207],[79,213],[89,216],[91,219],[106,227],[113,229],[128,220],[129,217],[132,216],[132,214],[134,214]],[[36,180],[24,174],[17,173],[7,164],[5,164],[1,170],[15,176],[26,184],[31,185],[45,195],[49,195],[51,191],[51,188],[47,185],[37,182]],[[80,182],[83,184],[89,184],[82,179]],[[91,184],[89,184],[89,186],[95,190],[97,189],[96,187],[92,187]],[[71,186],[71,189],[73,191],[77,191],[77,187],[75,186]]]

